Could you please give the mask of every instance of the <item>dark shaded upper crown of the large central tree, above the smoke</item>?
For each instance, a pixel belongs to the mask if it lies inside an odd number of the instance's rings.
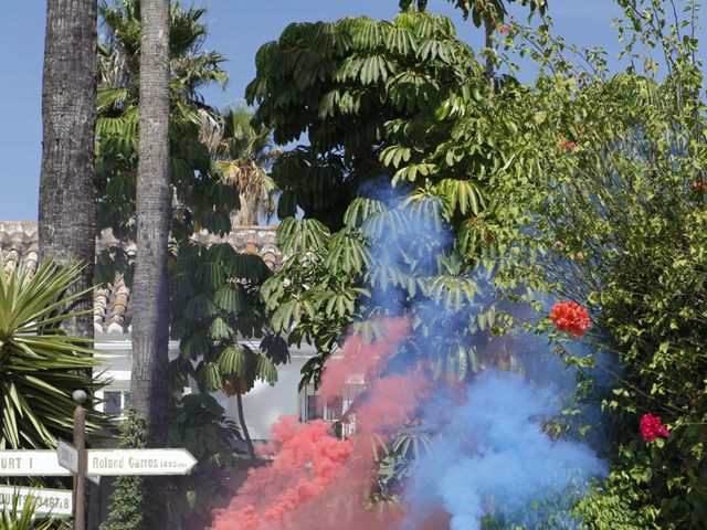
[[[281,219],[299,208],[337,230],[365,182],[401,170],[399,180],[414,184],[436,174],[436,161],[423,158],[437,139],[434,109],[452,93],[481,98],[487,85],[473,52],[454,35],[443,17],[405,12],[393,22],[291,24],[261,47],[246,91],[258,105],[255,120],[273,129],[276,144],[305,132],[309,139],[273,166]],[[401,145],[399,155],[386,150],[398,144],[393,135],[411,131],[422,144]]]

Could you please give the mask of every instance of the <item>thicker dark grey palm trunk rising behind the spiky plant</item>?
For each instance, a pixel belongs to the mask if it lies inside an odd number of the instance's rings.
[[[93,285],[96,199],[96,0],[48,0],[42,80],[42,174],[40,259],[85,265],[76,290]],[[91,310],[91,293],[72,309]],[[93,316],[68,320],[64,329],[93,338]]]

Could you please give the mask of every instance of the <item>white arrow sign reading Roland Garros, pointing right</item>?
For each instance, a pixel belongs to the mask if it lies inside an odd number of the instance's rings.
[[[88,449],[88,475],[186,475],[197,464],[187,449]]]

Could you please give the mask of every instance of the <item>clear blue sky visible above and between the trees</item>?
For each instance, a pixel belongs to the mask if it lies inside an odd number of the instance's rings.
[[[189,4],[189,0],[182,3]],[[366,14],[390,19],[397,0],[194,0],[207,6],[209,49],[229,59],[231,81],[224,92],[209,91],[207,100],[221,107],[239,102],[255,73],[254,57],[261,44],[276,39],[295,21],[336,20]],[[460,38],[472,46],[481,33],[445,0],[430,0],[428,8],[450,15]],[[618,53],[611,19],[619,13],[612,0],[552,0],[558,32],[582,45],[600,44],[611,56]],[[0,18],[0,220],[36,220],[41,165],[41,83],[44,52],[45,1],[7,2]],[[517,8],[516,14],[523,14]]]

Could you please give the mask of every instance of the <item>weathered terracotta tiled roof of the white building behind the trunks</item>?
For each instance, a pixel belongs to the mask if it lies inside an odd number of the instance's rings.
[[[228,235],[220,237],[210,234],[198,234],[196,241],[207,245],[212,243],[230,243],[238,252],[260,255],[273,271],[282,265],[282,255],[275,246],[275,227],[273,226],[234,226]],[[116,240],[113,233],[104,231],[96,240],[96,253],[104,250],[122,248],[134,262],[136,247]],[[29,267],[36,271],[39,261],[38,227],[34,221],[0,221],[0,253],[3,257],[4,273],[15,267]],[[125,333],[130,326],[130,289],[125,285],[120,273],[116,273],[112,283],[94,290],[93,318],[96,332]]]

